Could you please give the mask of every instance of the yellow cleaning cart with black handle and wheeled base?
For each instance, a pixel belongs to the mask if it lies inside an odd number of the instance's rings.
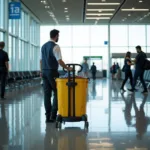
[[[68,72],[68,78],[58,78],[58,116],[56,119],[56,128],[61,128],[64,122],[85,122],[85,128],[89,123],[86,115],[87,86],[88,79],[75,76],[75,69],[79,64],[67,64],[73,70]],[[72,75],[71,75],[72,73]]]

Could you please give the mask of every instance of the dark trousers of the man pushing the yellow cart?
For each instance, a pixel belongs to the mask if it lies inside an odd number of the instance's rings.
[[[57,70],[43,70],[43,88],[44,88],[44,106],[46,116],[52,116],[55,119],[57,115],[58,102],[57,102],[57,88],[55,79],[59,77]],[[51,105],[52,91],[54,93],[53,106]]]

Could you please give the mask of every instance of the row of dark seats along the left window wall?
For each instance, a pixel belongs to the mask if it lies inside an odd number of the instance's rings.
[[[32,84],[40,79],[39,71],[9,72],[7,77],[7,88],[16,88],[26,84]]]

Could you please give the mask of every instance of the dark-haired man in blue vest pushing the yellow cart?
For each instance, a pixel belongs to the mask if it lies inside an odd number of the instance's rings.
[[[55,29],[52,30],[50,32],[50,38],[51,40],[42,46],[40,61],[44,88],[46,122],[54,122],[57,116],[58,102],[55,79],[59,77],[58,67],[60,65],[67,70],[72,70],[72,68],[67,67],[62,60],[60,47],[56,44],[59,39],[59,31]],[[52,91],[54,93],[53,106],[51,106]]]

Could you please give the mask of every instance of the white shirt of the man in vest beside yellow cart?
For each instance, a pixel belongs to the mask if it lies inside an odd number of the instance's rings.
[[[51,42],[54,42],[53,40],[50,40]],[[55,43],[55,42],[54,42]],[[62,55],[61,55],[61,50],[60,50],[60,46],[56,45],[53,48],[53,54],[56,58],[57,61],[59,61],[60,59],[62,59]],[[42,54],[41,54],[41,59],[42,59]]]

